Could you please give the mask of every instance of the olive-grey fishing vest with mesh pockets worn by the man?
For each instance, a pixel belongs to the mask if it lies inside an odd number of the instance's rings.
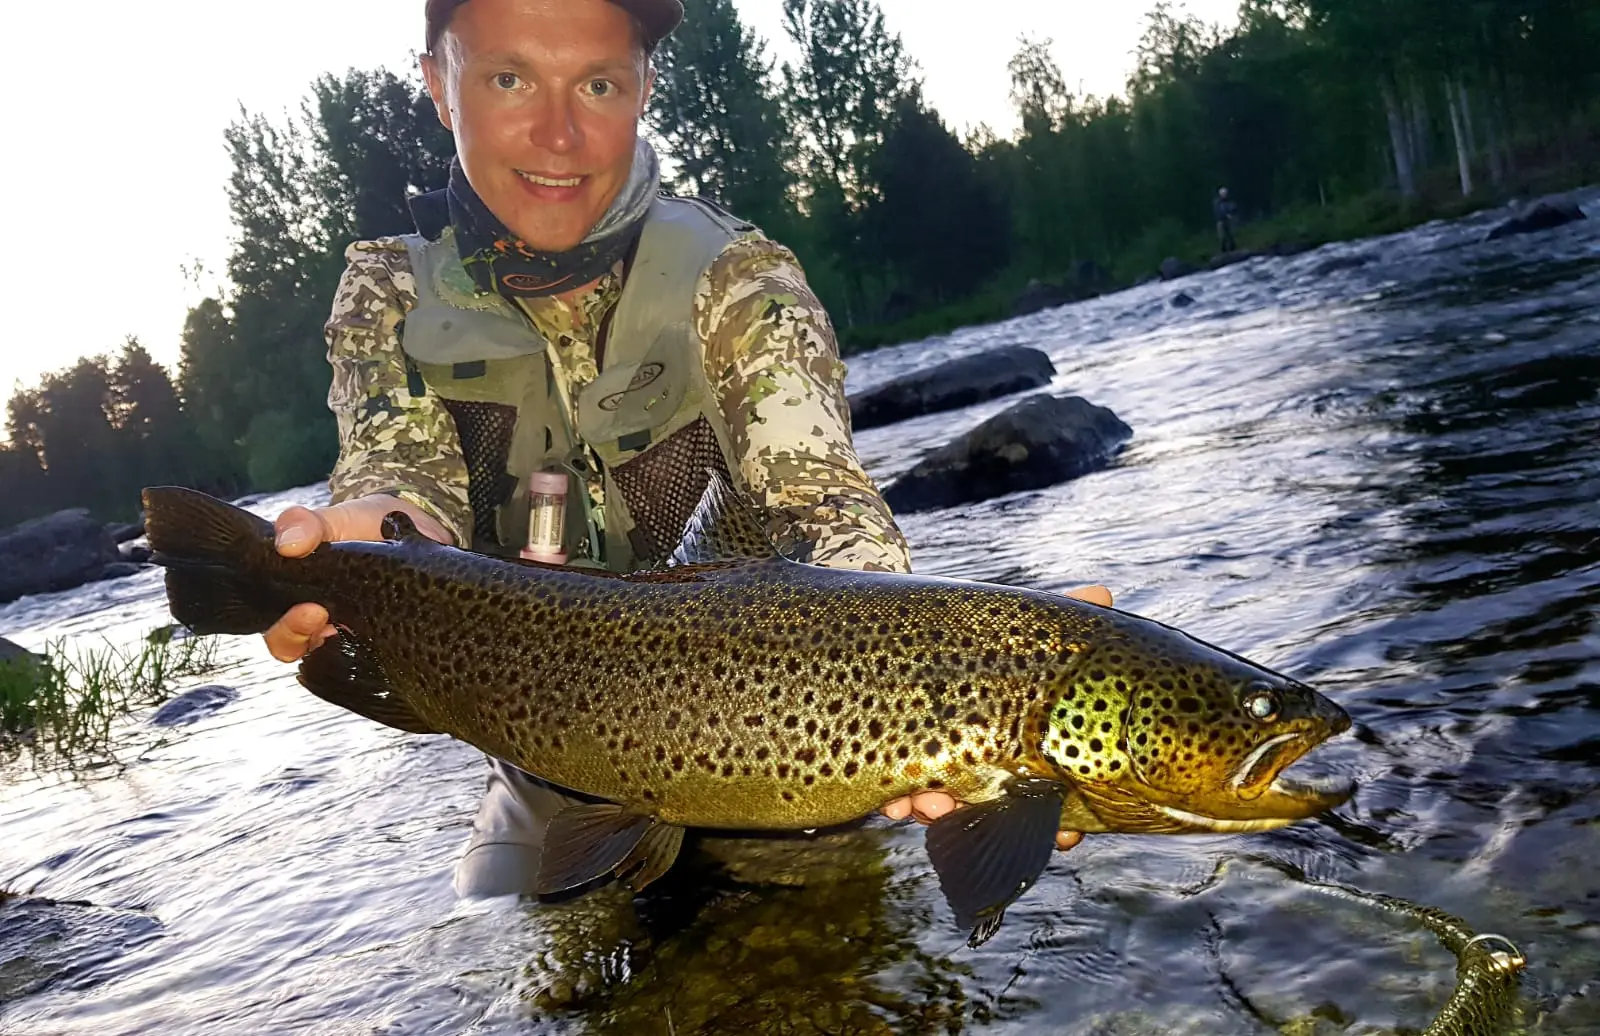
[[[738,472],[694,331],[694,288],[750,230],[696,198],[654,201],[602,333],[600,374],[578,392],[576,422],[550,345],[515,304],[478,291],[454,230],[402,238],[416,277],[416,307],[400,329],[410,388],[434,393],[454,419],[474,550],[515,555],[528,531],[528,476],[560,470],[570,564],[630,571],[672,553],[709,472]],[[594,459],[598,502],[586,478]]]

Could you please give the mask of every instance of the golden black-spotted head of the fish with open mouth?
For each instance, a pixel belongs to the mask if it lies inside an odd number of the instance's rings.
[[[1254,831],[1344,803],[1344,780],[1285,771],[1350,727],[1312,687],[1139,620],[1086,651],[1053,702],[1050,761],[1122,817],[1109,830]],[[1134,822],[1138,814],[1138,822]]]

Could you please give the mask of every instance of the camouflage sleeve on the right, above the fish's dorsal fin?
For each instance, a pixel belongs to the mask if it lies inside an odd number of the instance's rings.
[[[910,550],[856,459],[834,325],[794,253],[762,237],[730,245],[694,296],[706,374],[738,475],[811,561],[910,571]]]

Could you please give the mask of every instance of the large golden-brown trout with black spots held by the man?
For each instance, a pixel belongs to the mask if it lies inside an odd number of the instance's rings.
[[[499,561],[421,536],[288,560],[264,520],[144,491],[173,616],[259,633],[315,601],[339,635],[301,683],[605,799],[550,822],[539,889],[635,889],[683,830],[806,830],[920,788],[970,803],[928,852],[973,945],[1058,830],[1259,831],[1342,803],[1283,769],[1349,716],[1306,684],[1053,593],[778,556],[714,481],[678,564],[634,576]]]

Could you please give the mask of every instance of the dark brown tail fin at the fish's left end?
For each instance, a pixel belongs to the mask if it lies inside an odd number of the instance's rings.
[[[166,569],[173,619],[195,633],[264,633],[294,604],[274,585],[272,523],[179,486],[142,497],[150,561]]]

